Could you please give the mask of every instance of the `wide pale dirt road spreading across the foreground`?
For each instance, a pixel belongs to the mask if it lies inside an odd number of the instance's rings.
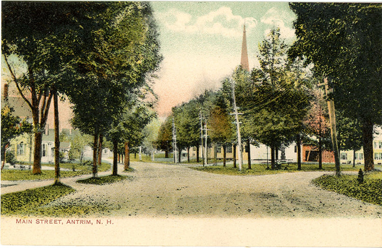
[[[382,217],[382,206],[319,189],[324,172],[227,176],[182,166],[133,163],[133,180],[111,185],[64,183],[78,190],[50,206],[91,205],[87,216]],[[326,172],[327,173],[327,172]]]

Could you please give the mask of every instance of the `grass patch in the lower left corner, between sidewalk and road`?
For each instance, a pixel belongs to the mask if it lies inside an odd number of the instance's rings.
[[[64,184],[27,189],[2,195],[2,215],[33,215],[36,209],[75,190]]]

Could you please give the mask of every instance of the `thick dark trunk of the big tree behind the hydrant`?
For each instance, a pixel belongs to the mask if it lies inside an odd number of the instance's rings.
[[[373,124],[365,121],[362,124],[362,140],[364,145],[364,171],[374,170],[374,158],[373,158]]]

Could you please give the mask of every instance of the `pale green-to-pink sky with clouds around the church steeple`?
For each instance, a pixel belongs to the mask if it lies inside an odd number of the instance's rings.
[[[153,85],[160,117],[171,108],[219,89],[240,64],[243,24],[249,65],[258,67],[258,44],[272,27],[294,40],[294,13],[286,2],[151,2],[163,61]]]

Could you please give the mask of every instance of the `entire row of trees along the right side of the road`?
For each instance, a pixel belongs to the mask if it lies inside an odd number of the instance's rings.
[[[211,143],[222,145],[225,157],[226,147],[238,143],[231,115],[233,87],[242,114],[241,142],[269,146],[272,168],[278,149],[292,142],[297,146],[298,169],[302,142],[319,149],[322,168],[322,151],[333,149],[326,103],[333,99],[340,149],[355,152],[363,147],[365,171],[374,169],[373,126],[382,124],[382,6],[297,3],[290,8],[297,16],[296,41],[286,44],[280,30],[272,29],[259,44],[259,68],[238,67],[221,89],[173,108],[160,128],[159,149],[173,149],[174,122],[178,151],[199,151],[203,118]],[[317,87],[323,78],[329,78],[332,93]],[[251,168],[250,153],[248,160]],[[338,175],[339,170],[338,165]]]

